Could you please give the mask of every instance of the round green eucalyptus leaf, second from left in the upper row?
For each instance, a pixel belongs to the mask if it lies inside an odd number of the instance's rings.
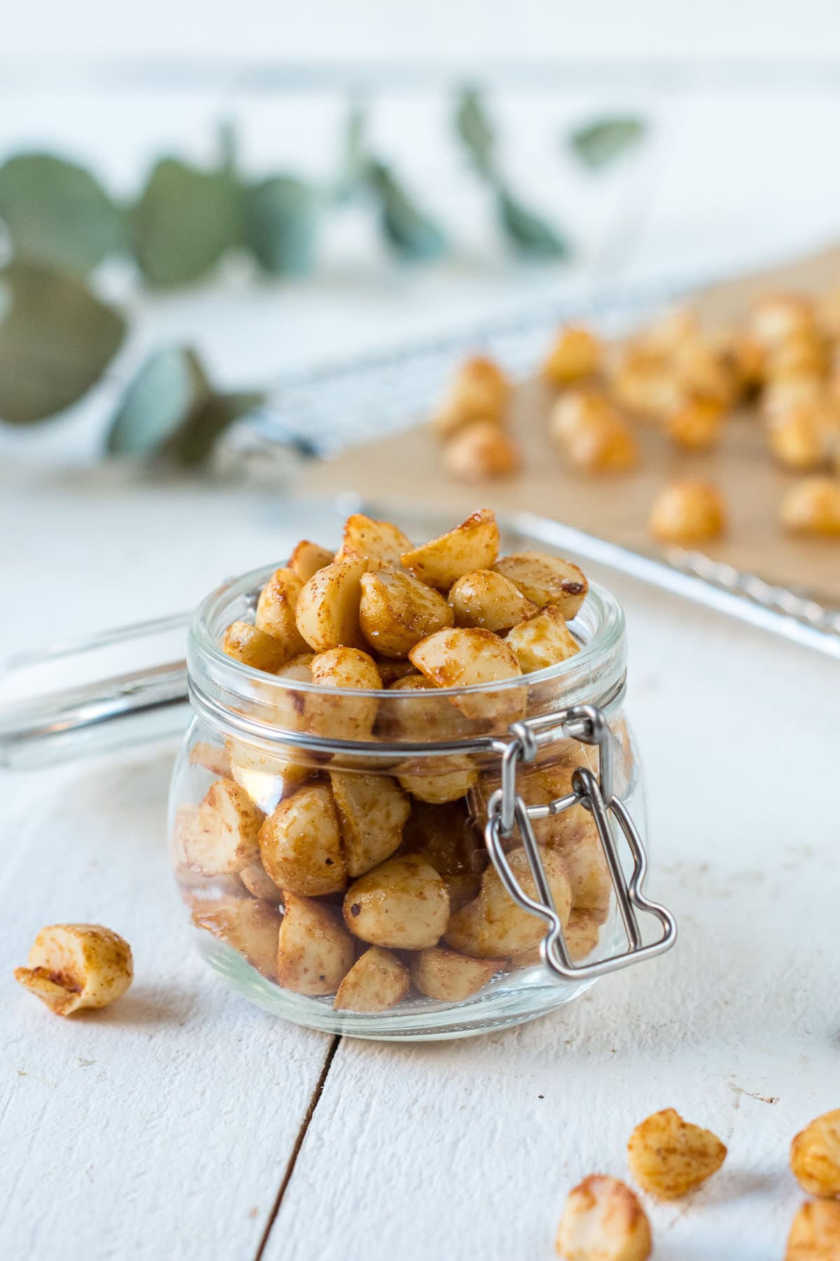
[[[149,284],[186,285],[242,240],[242,189],[228,169],[161,159],[133,208],[137,262]]]

